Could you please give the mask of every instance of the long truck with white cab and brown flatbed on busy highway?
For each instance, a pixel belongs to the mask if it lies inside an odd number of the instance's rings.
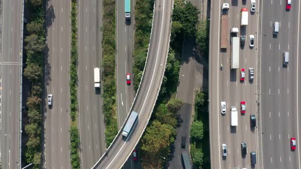
[[[221,24],[220,24],[220,48],[228,47],[229,43],[229,4],[223,3],[221,6]]]

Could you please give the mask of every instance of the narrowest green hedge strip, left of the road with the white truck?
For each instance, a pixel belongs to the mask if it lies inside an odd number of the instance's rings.
[[[77,63],[78,63],[78,2],[71,1],[71,58],[70,58],[70,161],[71,168],[81,168],[78,128]]]

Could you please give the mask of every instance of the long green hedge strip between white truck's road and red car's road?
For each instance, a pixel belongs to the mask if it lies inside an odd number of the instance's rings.
[[[115,78],[115,1],[104,0],[103,17],[103,113],[106,120],[106,143],[110,146],[116,134],[116,78]]]

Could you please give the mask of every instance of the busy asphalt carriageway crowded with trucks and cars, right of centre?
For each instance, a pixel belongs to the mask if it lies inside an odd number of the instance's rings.
[[[211,29],[210,29],[210,69],[209,69],[209,100],[210,100],[210,155],[211,168],[232,168],[247,167],[256,168],[257,165],[250,165],[251,151],[258,152],[257,128],[251,129],[249,123],[250,114],[256,114],[256,83],[248,80],[248,68],[257,71],[257,13],[250,13],[250,2],[231,1],[229,2],[229,31],[231,27],[238,27],[238,37],[246,36],[244,47],[240,47],[239,69],[230,69],[231,45],[227,50],[221,50],[220,40],[220,7],[224,2],[211,2]],[[257,4],[258,10],[258,4]],[[248,25],[240,26],[240,9],[248,9]],[[216,34],[218,32],[218,34]],[[229,33],[230,34],[230,33]],[[255,35],[254,48],[249,47],[249,35]],[[235,35],[230,35],[235,36]],[[215,45],[218,44],[218,45]],[[223,63],[223,69],[219,68]],[[240,68],[245,68],[246,78],[240,82]],[[220,102],[227,103],[227,113],[223,116],[220,113]],[[245,115],[240,113],[240,101],[246,102]],[[230,107],[236,106],[238,109],[238,126],[230,126]],[[257,114],[256,114],[257,115]],[[240,144],[247,144],[247,155],[242,156]],[[221,156],[221,144],[228,146],[227,158]],[[257,160],[258,161],[258,160]]]

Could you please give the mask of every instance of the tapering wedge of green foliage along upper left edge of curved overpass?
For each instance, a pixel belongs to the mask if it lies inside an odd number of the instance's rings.
[[[133,74],[135,74],[134,89],[138,90],[140,79],[146,61],[155,0],[139,0],[135,4],[135,46]]]

